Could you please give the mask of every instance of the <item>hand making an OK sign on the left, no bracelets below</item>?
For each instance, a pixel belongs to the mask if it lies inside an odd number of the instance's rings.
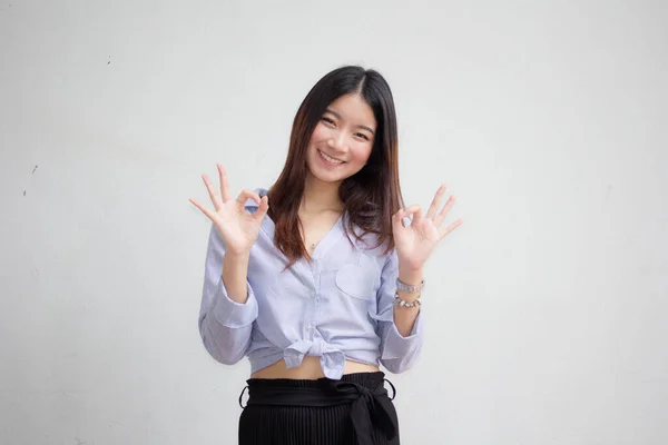
[[[261,199],[259,195],[255,191],[244,189],[238,198],[233,199],[229,194],[225,169],[219,162],[217,162],[216,166],[218,167],[218,174],[220,176],[220,196],[216,194],[216,190],[206,174],[202,175],[206,189],[212,198],[212,202],[214,204],[215,211],[206,208],[194,198],[190,198],[189,200],[214,222],[223,237],[226,251],[234,255],[247,255],[257,239],[259,226],[269,208],[268,198],[263,196]],[[247,199],[253,199],[259,205],[255,214],[248,214],[246,211],[245,204]]]

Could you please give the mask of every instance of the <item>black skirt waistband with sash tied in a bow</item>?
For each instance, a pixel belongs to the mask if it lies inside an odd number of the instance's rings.
[[[249,378],[248,386],[239,395],[239,405],[246,389],[246,406],[333,406],[351,404],[351,419],[360,445],[373,445],[373,428],[379,427],[389,441],[399,431],[392,399],[396,389],[385,374],[346,374],[341,380],[318,378],[317,380]],[[392,387],[392,398],[383,383]]]

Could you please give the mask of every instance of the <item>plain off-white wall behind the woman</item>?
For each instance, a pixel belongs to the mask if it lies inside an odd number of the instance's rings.
[[[233,444],[200,174],[277,177],[331,69],[395,97],[464,225],[390,376],[403,443],[668,442],[665,1],[0,1],[0,443]]]

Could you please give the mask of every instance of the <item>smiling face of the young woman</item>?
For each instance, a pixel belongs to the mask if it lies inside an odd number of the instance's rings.
[[[364,167],[376,131],[373,110],[360,95],[342,96],[327,107],[308,142],[310,174],[341,182]]]

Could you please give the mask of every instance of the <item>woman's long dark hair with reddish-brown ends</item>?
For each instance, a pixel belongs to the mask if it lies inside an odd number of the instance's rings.
[[[348,216],[344,229],[348,239],[353,234],[357,241],[364,234],[376,235],[373,247],[386,243],[384,253],[394,247],[392,215],[403,207],[403,198],[399,185],[399,137],[392,91],[375,70],[342,67],[318,80],[299,106],[285,166],[268,191],[268,216],[276,226],[274,243],[289,259],[288,267],[302,257],[310,257],[302,240],[298,209],[308,169],[306,151],[311,136],[327,106],[348,93],[358,93],[371,107],[377,128],[369,161],[355,175],[344,179],[338,188],[338,197]],[[361,228],[362,234],[357,234],[355,227]]]

